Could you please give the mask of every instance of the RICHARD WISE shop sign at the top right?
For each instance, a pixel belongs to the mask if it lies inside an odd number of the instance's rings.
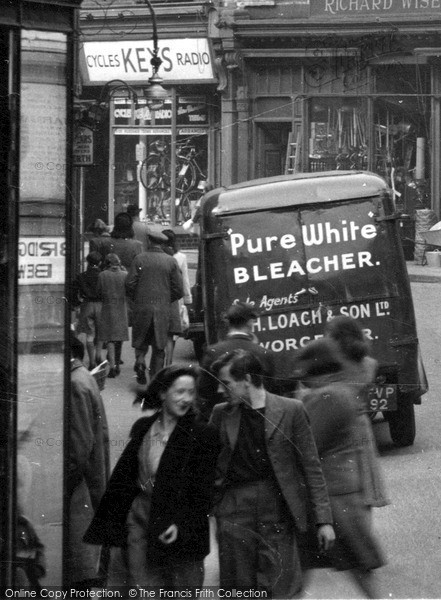
[[[391,14],[403,17],[419,14],[440,15],[441,0],[310,0],[310,14],[313,17],[341,19],[342,17],[363,17],[373,19]]]

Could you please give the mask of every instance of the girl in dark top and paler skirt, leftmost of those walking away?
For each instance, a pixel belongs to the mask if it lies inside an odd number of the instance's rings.
[[[86,270],[77,276],[72,285],[72,304],[79,306],[80,314],[76,333],[86,336],[86,349],[91,371],[101,362],[101,349],[98,343],[98,323],[102,306],[98,293],[101,254],[90,252],[86,256],[86,261]]]

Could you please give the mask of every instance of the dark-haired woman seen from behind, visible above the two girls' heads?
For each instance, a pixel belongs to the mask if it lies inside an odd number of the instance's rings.
[[[132,217],[126,212],[118,213],[110,237],[103,238],[100,244],[103,260],[113,252],[119,256],[123,267],[129,270],[135,256],[143,251],[142,243],[134,238]]]

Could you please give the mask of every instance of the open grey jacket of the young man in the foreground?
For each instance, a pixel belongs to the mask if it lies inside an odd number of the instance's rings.
[[[225,485],[239,434],[240,406],[214,407],[211,423],[219,430],[216,487]],[[280,490],[299,531],[306,531],[311,514],[315,524],[332,523],[328,492],[308,416],[299,400],[266,393],[265,439]]]

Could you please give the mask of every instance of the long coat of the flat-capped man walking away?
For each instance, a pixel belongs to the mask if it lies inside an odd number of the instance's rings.
[[[176,260],[159,246],[139,254],[129,269],[126,291],[133,300],[132,346],[144,348],[147,332],[153,324],[156,345],[165,348],[171,303],[184,294]]]

